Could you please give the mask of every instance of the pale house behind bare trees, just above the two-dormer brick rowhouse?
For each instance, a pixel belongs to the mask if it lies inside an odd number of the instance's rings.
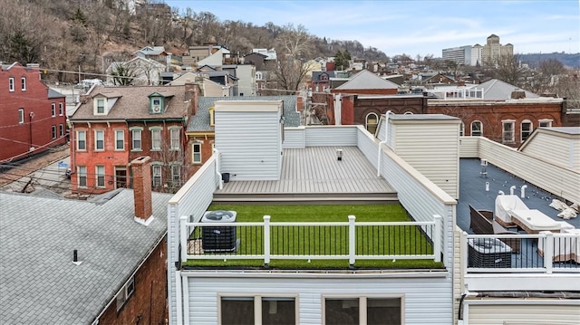
[[[139,56],[126,62],[112,62],[106,69],[108,84],[134,86],[152,86],[162,83],[161,72],[165,72],[166,65],[160,62],[141,58]]]

